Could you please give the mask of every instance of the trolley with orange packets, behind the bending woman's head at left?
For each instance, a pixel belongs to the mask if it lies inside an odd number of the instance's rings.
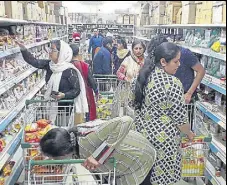
[[[46,159],[39,150],[40,139],[53,127],[73,127],[74,115],[74,100],[26,101],[25,124],[21,141],[25,170],[30,159]],[[25,175],[25,181],[26,179],[27,175]]]

